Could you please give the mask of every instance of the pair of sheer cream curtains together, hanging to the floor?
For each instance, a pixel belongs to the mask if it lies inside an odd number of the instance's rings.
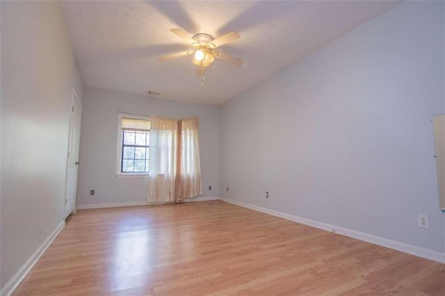
[[[197,117],[151,118],[148,202],[181,202],[202,195]]]

